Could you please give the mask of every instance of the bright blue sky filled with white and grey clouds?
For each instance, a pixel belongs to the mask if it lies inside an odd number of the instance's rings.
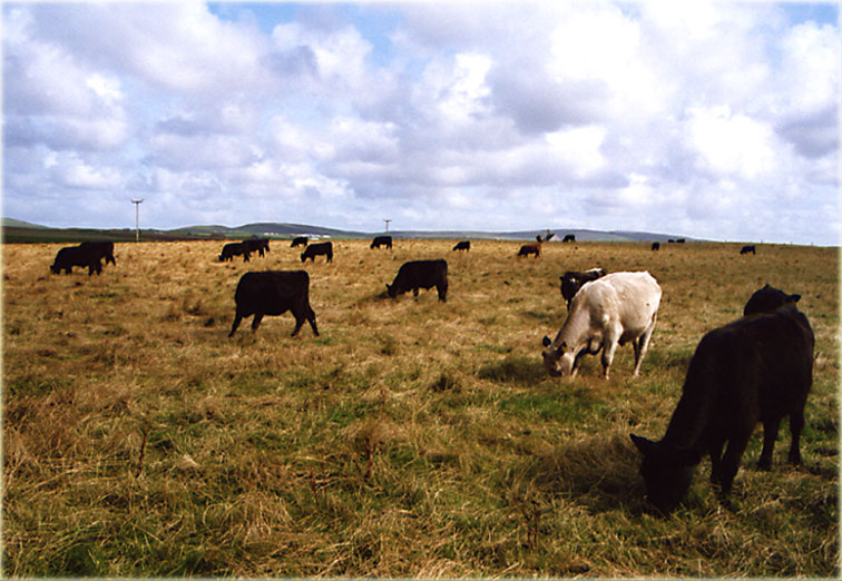
[[[839,3],[2,4],[2,215],[839,245]]]

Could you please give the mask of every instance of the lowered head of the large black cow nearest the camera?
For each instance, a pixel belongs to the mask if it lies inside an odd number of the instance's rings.
[[[643,454],[640,475],[646,483],[646,498],[664,514],[678,506],[693,482],[693,469],[702,454],[664,442],[653,442],[632,434]]]

